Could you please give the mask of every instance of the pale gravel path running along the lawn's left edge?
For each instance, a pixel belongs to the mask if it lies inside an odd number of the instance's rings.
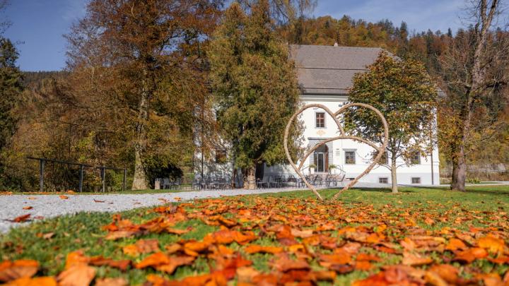
[[[25,225],[29,222],[10,222],[20,215],[30,213],[30,218],[37,221],[41,218],[52,218],[78,212],[119,212],[132,208],[161,205],[194,198],[217,198],[219,196],[237,196],[252,193],[279,193],[295,191],[296,188],[257,189],[257,190],[218,190],[218,191],[184,191],[180,193],[144,193],[144,194],[106,194],[106,195],[68,195],[62,199],[57,195],[11,195],[0,196],[0,234],[11,227]],[[32,207],[24,210],[23,207]],[[33,221],[34,221],[33,220]]]

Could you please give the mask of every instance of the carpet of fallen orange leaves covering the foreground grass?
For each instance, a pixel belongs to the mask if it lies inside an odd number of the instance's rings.
[[[44,270],[35,260],[4,261],[0,282],[129,283],[97,277],[102,266],[146,271],[146,285],[316,285],[353,273],[353,285],[509,285],[504,212],[239,196],[158,206],[149,213],[139,223],[116,214],[102,227],[101,239],[118,244],[122,260],[73,251],[55,277],[41,277]],[[185,238],[194,231],[182,228],[190,221],[213,231]],[[160,234],[175,240],[163,243]],[[265,270],[256,267],[260,259]],[[208,272],[197,271],[204,261]],[[175,280],[179,268],[190,275]]]

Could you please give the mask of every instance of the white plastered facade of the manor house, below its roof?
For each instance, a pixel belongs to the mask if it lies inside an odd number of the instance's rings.
[[[311,103],[319,103],[321,105],[325,105],[332,112],[336,112],[339,109],[340,105],[343,105],[346,102],[346,95],[303,95],[301,96],[301,102],[303,105],[308,105]],[[305,147],[310,146],[310,142],[312,145],[315,145],[316,141],[332,138],[334,136],[339,136],[339,131],[337,126],[329,116],[329,114],[325,114],[325,127],[324,128],[316,128],[315,127],[315,112],[321,112],[322,109],[310,108],[305,110],[303,114],[301,114],[300,119],[303,120],[305,125],[304,137],[305,137]],[[363,143],[358,143],[356,141],[352,141],[349,139],[345,140],[337,140],[332,141],[327,144],[329,146],[329,165],[334,164],[346,172],[346,178],[354,178],[361,174],[368,165],[370,164],[370,154],[373,152],[373,148],[369,145],[365,145]],[[356,164],[346,164],[345,162],[345,151],[346,150],[354,150],[356,154]],[[313,162],[313,155],[310,155],[307,162],[304,164],[304,173],[308,173],[308,165]],[[401,162],[397,162],[397,165],[404,164],[403,160]],[[433,174],[432,174],[432,164],[433,164]],[[332,173],[335,171],[333,170]],[[337,172],[337,171],[336,171]],[[439,165],[438,165],[438,148],[433,150],[433,163],[431,162],[431,155],[426,157],[421,157],[421,164],[407,166],[403,165],[397,169],[397,183],[404,185],[411,185],[412,178],[420,178],[421,185],[431,185],[431,184],[440,184],[440,176],[439,176]],[[293,168],[289,165],[285,166],[273,166],[266,167],[264,170],[264,177],[268,176],[276,176],[278,174],[294,174]],[[432,180],[433,176],[433,180]],[[380,178],[387,178],[387,182],[391,183],[391,175],[390,170],[387,167],[376,166],[371,170],[369,174],[366,174],[363,178],[360,179],[361,182],[367,183],[379,183]],[[432,182],[433,181],[433,182]]]

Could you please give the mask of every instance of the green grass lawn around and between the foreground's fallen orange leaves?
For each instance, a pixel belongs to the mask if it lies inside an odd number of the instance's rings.
[[[164,251],[165,246],[176,242],[204,239],[206,234],[220,230],[219,226],[207,224],[206,215],[221,215],[237,222],[233,227],[242,232],[253,230],[258,238],[251,244],[265,246],[286,246],[278,241],[274,234],[264,230],[259,225],[283,224],[298,227],[302,230],[315,229],[320,223],[330,222],[334,230],[323,231],[327,237],[334,239],[338,246],[352,242],[351,238],[344,237],[338,230],[344,227],[365,226],[366,232],[383,234],[385,240],[390,244],[397,244],[394,249],[401,252],[399,241],[405,237],[416,234],[443,237],[448,240],[454,237],[467,235],[473,240],[464,239],[467,245],[475,244],[475,239],[493,232],[505,240],[505,251],[509,242],[508,212],[509,212],[509,186],[469,186],[465,193],[447,191],[437,188],[400,188],[400,193],[392,194],[386,189],[353,189],[342,194],[339,201],[330,201],[336,190],[320,191],[326,198],[325,203],[315,200],[310,191],[291,191],[285,193],[264,193],[257,196],[238,196],[202,200],[195,203],[185,203],[187,215],[192,217],[179,221],[173,226],[178,230],[191,229],[185,234],[169,233],[146,233],[141,237],[128,237],[118,240],[107,240],[107,232],[102,230],[103,225],[112,222],[112,216],[106,213],[79,213],[77,215],[66,215],[60,218],[53,218],[35,222],[26,227],[19,227],[11,230],[8,234],[0,236],[0,252],[2,260],[15,260],[20,258],[35,259],[41,263],[37,276],[57,275],[60,273],[66,261],[66,254],[70,251],[83,249],[88,256],[102,255],[114,259],[131,259],[138,263],[149,254],[132,258],[123,253],[122,247],[134,244],[138,239],[158,239],[160,249]],[[177,205],[177,204],[175,204]],[[241,220],[239,210],[250,210],[256,214],[252,221]],[[270,213],[271,217],[264,217]],[[196,216],[200,214],[200,216]],[[161,215],[151,208],[139,208],[121,213],[122,219],[130,220],[134,224],[141,224]],[[296,225],[296,220],[302,215],[310,222],[302,222]],[[281,217],[279,217],[281,216]],[[287,220],[285,222],[285,220]],[[430,221],[431,220],[431,221]],[[298,221],[300,223],[300,220]],[[380,230],[381,225],[387,225]],[[491,228],[488,228],[491,227]],[[378,232],[380,230],[380,232]],[[472,231],[479,232],[472,234]],[[42,234],[54,233],[50,239],[42,238]],[[265,233],[267,232],[267,233]],[[303,239],[296,239],[303,242]],[[353,239],[353,241],[356,241]],[[370,270],[353,270],[349,273],[338,273],[334,283],[336,285],[349,285],[353,280],[366,278],[368,275],[377,273],[380,266],[401,263],[401,254],[389,254],[378,251],[378,246],[362,242],[361,253],[375,254],[382,258],[381,261],[373,262]],[[269,273],[274,259],[272,254],[246,254],[243,251],[245,246],[236,242],[227,245],[233,251],[239,251],[242,257],[253,262],[256,270]],[[312,246],[313,253],[327,254],[330,249],[320,245]],[[504,275],[509,269],[508,263],[496,264],[479,259],[471,264],[450,262],[452,253],[440,253],[440,251],[426,251],[435,261],[434,263],[451,263],[460,270],[463,278],[472,278],[472,269],[479,273],[498,273]],[[508,255],[509,253],[500,254]],[[295,254],[298,256],[298,254]],[[494,257],[495,254],[490,254]],[[294,254],[291,257],[295,258]],[[490,256],[490,257],[491,257]],[[310,267],[313,270],[326,270],[317,263],[317,259],[309,259]],[[146,281],[146,276],[151,273],[162,276],[168,280],[182,279],[189,275],[208,273],[213,268],[215,261],[206,258],[201,254],[191,266],[180,266],[175,273],[161,273],[152,268],[135,269],[130,268],[126,272],[100,266],[97,268],[96,278],[123,277],[130,285],[141,285]],[[426,268],[427,266],[424,266]],[[509,276],[508,276],[509,277]],[[235,278],[236,279],[236,278]],[[327,285],[326,282],[320,282]]]

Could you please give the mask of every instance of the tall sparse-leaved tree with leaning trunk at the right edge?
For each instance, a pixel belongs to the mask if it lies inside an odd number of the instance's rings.
[[[474,25],[458,32],[440,56],[440,69],[447,97],[445,118],[453,129],[442,129],[441,138],[447,142],[445,151],[452,160],[451,189],[465,190],[467,155],[474,150],[475,122],[492,130],[491,121],[481,119],[486,99],[501,90],[508,82],[509,41],[503,33],[493,30],[501,1],[470,2]],[[488,132],[481,132],[484,137]],[[479,134],[479,133],[477,133]]]

